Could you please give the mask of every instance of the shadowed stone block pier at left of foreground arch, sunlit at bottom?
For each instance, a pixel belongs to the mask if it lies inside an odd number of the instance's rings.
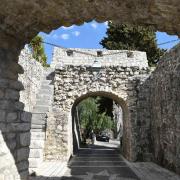
[[[0,39],[0,177],[16,180],[28,175],[28,152],[31,115],[23,111],[19,91],[23,85],[18,73],[23,73],[17,63],[20,47],[6,35]],[[18,174],[17,174],[18,172]]]

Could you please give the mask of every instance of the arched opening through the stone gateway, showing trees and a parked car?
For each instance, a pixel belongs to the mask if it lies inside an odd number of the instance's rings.
[[[122,101],[113,97],[110,93],[96,92],[75,101],[72,108],[73,154],[84,148],[123,152],[127,111]]]

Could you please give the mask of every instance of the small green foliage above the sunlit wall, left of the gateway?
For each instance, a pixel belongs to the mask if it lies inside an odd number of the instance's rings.
[[[33,58],[40,62],[44,67],[49,67],[47,64],[47,57],[44,52],[44,46],[42,45],[43,38],[41,36],[35,36],[30,44],[29,48],[32,51]]]

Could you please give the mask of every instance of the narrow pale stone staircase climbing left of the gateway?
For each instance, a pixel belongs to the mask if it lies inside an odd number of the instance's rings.
[[[53,101],[54,86],[52,80],[47,80],[47,77],[53,72],[53,69],[48,69],[44,72],[39,93],[36,95],[36,105],[32,111],[31,121],[31,143],[29,154],[30,173],[43,162],[44,142],[46,139],[46,124],[48,114],[51,110]]]

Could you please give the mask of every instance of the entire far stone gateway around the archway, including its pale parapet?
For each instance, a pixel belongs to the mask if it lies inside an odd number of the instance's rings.
[[[148,76],[146,54],[143,52],[102,51],[71,49],[71,55],[63,49],[55,48],[52,67],[54,77],[54,117],[49,119],[53,126],[48,129],[45,158],[69,159],[72,155],[72,118],[74,104],[83,98],[99,94],[116,100],[124,112],[124,156],[137,160],[137,86]],[[79,53],[80,52],[80,53]],[[54,139],[54,143],[52,142]]]

